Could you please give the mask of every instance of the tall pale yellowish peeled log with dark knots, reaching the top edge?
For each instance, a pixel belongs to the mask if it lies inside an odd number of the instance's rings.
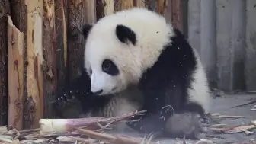
[[[26,127],[39,126],[43,117],[43,0],[26,1],[27,5],[27,102],[25,103]],[[49,36],[47,36],[49,37]],[[44,37],[45,38],[45,37]]]

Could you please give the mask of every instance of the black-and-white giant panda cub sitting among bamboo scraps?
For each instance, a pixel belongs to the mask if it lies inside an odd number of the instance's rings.
[[[162,15],[131,8],[85,26],[83,34],[85,69],[95,97],[130,87],[142,92],[139,110],[147,112],[128,126],[176,137],[206,133],[201,121],[210,110],[206,73],[197,51]]]

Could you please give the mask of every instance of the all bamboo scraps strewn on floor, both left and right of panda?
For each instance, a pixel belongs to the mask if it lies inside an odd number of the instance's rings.
[[[144,143],[159,143],[152,141],[151,136],[134,137],[120,134],[108,134],[107,130],[111,129],[117,123],[123,120],[129,120],[135,115],[142,115],[146,110],[136,111],[135,113],[124,114],[120,117],[88,117],[79,119],[40,119],[40,128],[32,130],[16,130],[13,126],[0,127],[0,144],[2,143],[123,143],[123,144],[144,144]],[[217,119],[222,119],[220,114],[210,114]],[[226,116],[224,118],[234,118],[235,116]],[[238,118],[238,117],[235,117]],[[229,126],[227,124],[210,124],[210,131],[213,133],[246,133],[247,135],[254,134],[255,120],[246,125]],[[108,131],[109,132],[109,131]],[[214,135],[216,136],[216,135]],[[213,136],[213,137],[214,137]],[[210,136],[206,136],[210,137]],[[177,139],[180,141],[179,139]],[[213,140],[213,139],[212,139]],[[176,141],[176,140],[175,140]],[[187,139],[182,139],[183,143]],[[192,143],[212,144],[213,141],[208,139],[200,139]],[[192,144],[191,143],[191,144]]]

